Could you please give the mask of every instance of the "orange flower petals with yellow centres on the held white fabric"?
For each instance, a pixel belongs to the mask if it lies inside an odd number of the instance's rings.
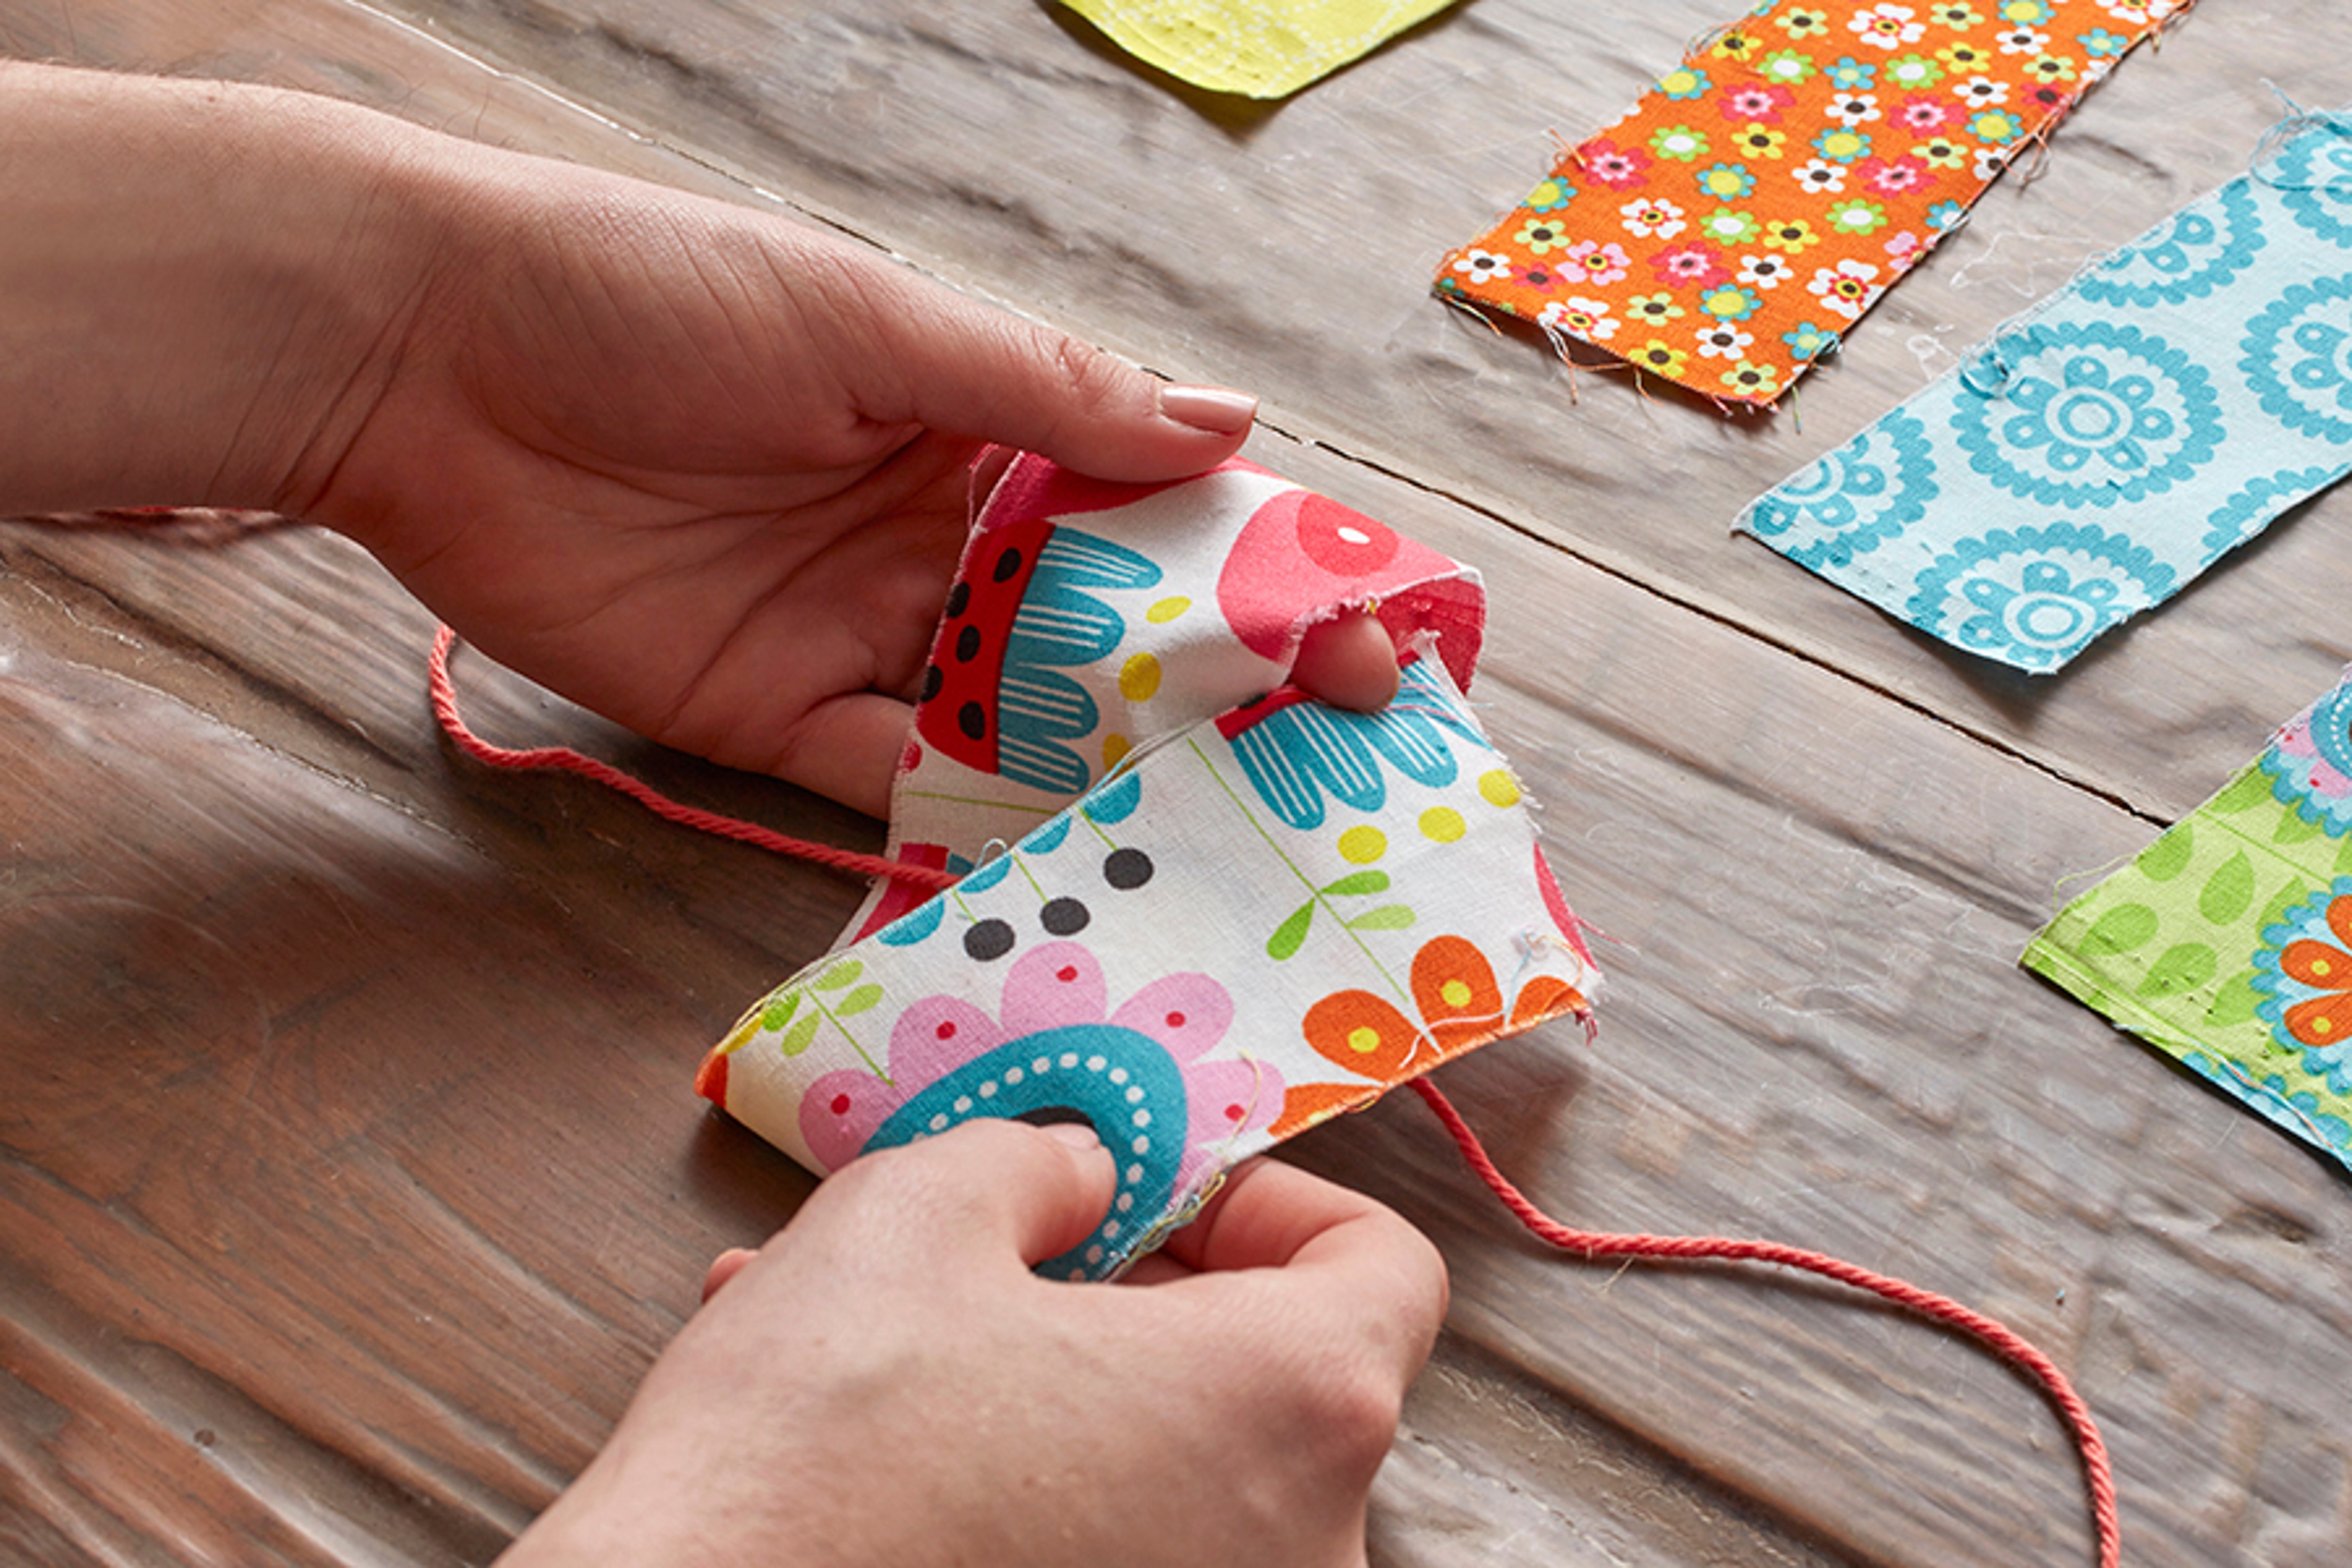
[[[1381,1091],[1418,1077],[1498,1034],[1534,1027],[1559,1013],[1583,1013],[1588,1001],[1557,976],[1536,976],[1508,1004],[1494,966],[1475,943],[1435,936],[1414,954],[1414,1011],[1418,1023],[1388,997],[1343,990],[1315,1001],[1298,1030],[1308,1046],[1359,1084],[1296,1084],[1282,1095],[1275,1138],[1327,1121],[1371,1103]]]

